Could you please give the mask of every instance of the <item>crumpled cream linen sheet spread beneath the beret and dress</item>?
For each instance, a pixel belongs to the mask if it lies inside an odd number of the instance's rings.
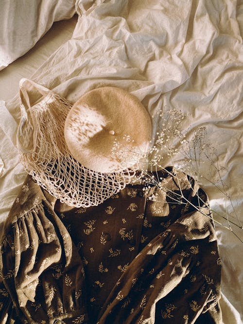
[[[99,86],[120,86],[136,95],[151,116],[167,106],[187,114],[184,127],[190,132],[207,126],[219,164],[228,168],[224,180],[243,222],[243,3],[78,0],[76,10],[79,19],[72,38],[31,79],[71,102]],[[2,222],[25,178],[16,150],[19,117],[17,97],[2,104]],[[156,122],[153,119],[154,135]],[[207,174],[207,164],[202,172]],[[202,185],[212,209],[223,213],[225,196],[211,184]],[[229,217],[237,222],[232,208]],[[215,220],[220,221],[216,215]],[[239,324],[243,321],[242,243],[229,230],[215,226],[223,266],[223,320]],[[236,226],[232,228],[243,237]]]

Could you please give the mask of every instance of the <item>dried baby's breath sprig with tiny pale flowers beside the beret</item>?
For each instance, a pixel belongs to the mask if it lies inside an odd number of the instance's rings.
[[[136,164],[139,164],[137,168],[141,170],[134,181],[144,184],[143,190],[145,192],[149,191],[151,186],[156,186],[169,198],[168,203],[170,204],[184,205],[185,208],[191,205],[195,210],[230,230],[243,242],[231,227],[231,224],[234,224],[236,227],[243,229],[230,197],[230,188],[224,180],[227,168],[219,165],[217,151],[208,140],[207,128],[202,126],[193,132],[190,129],[183,128],[183,121],[186,115],[176,109],[160,111],[156,114],[155,118],[157,120],[157,132],[156,137],[151,141],[150,149],[146,153],[139,152],[139,150],[133,152],[137,156]],[[127,140],[131,141],[132,138],[128,136]],[[122,145],[118,142],[114,143],[113,153],[120,156],[121,163],[123,161],[124,165],[127,165],[127,158],[134,157],[134,155],[132,157],[132,154],[129,155],[129,152],[122,150]],[[175,161],[180,162],[175,163]],[[207,168],[205,168],[205,164]],[[131,165],[134,166],[134,161],[131,161]],[[203,165],[204,168],[202,168]],[[169,171],[166,166],[173,166],[173,171]],[[156,172],[161,170],[166,171],[177,179],[178,192],[168,188],[166,179],[159,179]],[[197,199],[196,205],[184,196],[177,170],[189,175],[189,183]],[[204,170],[208,171],[207,174],[205,174]],[[154,171],[157,176],[154,176],[151,171]],[[205,205],[205,200],[200,195],[200,190],[198,190],[199,185],[202,185],[202,183],[213,185],[225,198],[226,203],[223,215],[212,210],[208,204]],[[158,201],[158,196],[152,195],[149,199]],[[202,208],[201,206],[204,207]],[[237,223],[229,219],[229,206],[234,212]],[[214,215],[217,215],[219,220],[220,218],[226,220],[227,226],[217,221]]]

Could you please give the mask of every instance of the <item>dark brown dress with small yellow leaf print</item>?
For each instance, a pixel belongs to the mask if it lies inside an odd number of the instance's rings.
[[[173,199],[180,181],[208,214],[207,196],[168,170],[159,179],[169,194],[128,185],[86,209],[28,176],[0,241],[0,323],[222,323],[213,223]]]

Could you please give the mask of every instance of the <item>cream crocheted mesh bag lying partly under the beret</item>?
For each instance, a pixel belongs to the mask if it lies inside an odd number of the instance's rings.
[[[72,103],[22,79],[17,148],[25,170],[38,185],[74,207],[99,205],[131,182],[136,168],[100,173],[82,166],[69,152],[64,124]]]

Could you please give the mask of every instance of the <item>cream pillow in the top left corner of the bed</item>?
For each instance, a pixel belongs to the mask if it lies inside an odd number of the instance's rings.
[[[75,14],[75,0],[1,0],[0,70],[29,51],[54,21]]]

